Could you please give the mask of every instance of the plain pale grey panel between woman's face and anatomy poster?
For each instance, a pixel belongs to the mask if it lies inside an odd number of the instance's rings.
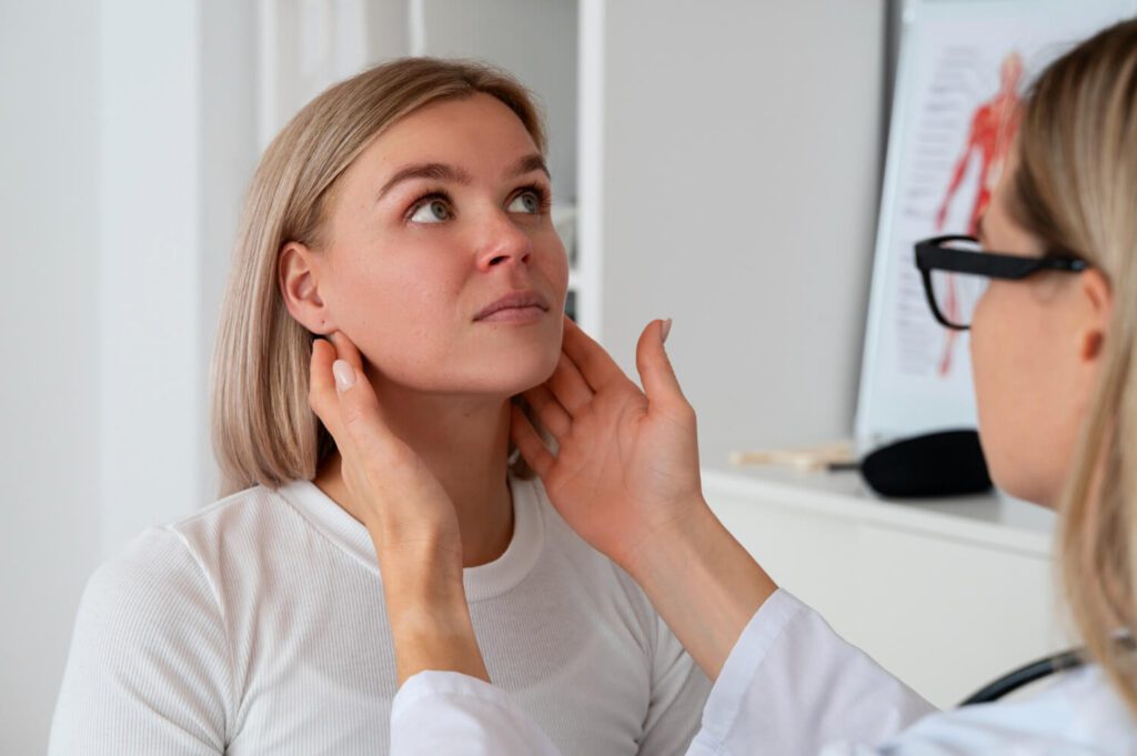
[[[674,318],[669,349],[707,465],[848,437],[885,3],[604,6],[605,344],[633,371],[644,324]],[[588,209],[582,197],[586,229]]]

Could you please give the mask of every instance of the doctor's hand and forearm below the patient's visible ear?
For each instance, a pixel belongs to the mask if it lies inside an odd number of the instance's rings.
[[[350,493],[341,502],[375,543],[398,681],[424,670],[489,680],[462,582],[454,504],[422,458],[383,422],[355,344],[312,344],[308,404],[335,439]]]

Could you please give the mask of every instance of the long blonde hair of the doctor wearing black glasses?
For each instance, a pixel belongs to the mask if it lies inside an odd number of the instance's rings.
[[[1019,133],[1012,211],[1110,281],[1101,375],[1060,505],[1060,570],[1087,650],[1137,714],[1137,19],[1054,61]]]

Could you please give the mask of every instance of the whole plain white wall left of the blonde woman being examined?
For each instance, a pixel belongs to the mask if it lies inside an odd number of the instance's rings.
[[[47,747],[78,597],[214,498],[206,374],[256,159],[251,3],[3,7],[0,753]]]

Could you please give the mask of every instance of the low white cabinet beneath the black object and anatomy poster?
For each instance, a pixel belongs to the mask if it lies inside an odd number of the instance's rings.
[[[938,706],[1069,645],[1047,510],[995,496],[881,500],[854,473],[703,475],[779,585]]]

